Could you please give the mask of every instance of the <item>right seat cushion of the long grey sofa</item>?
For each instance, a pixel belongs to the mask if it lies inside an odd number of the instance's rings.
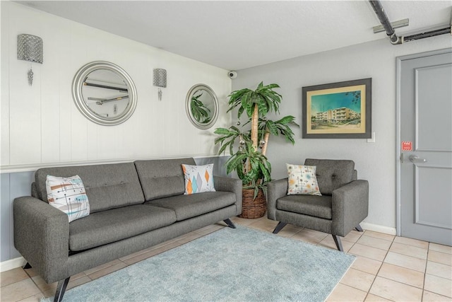
[[[155,199],[145,204],[164,207],[176,212],[177,221],[193,218],[235,204],[232,192],[203,192]]]

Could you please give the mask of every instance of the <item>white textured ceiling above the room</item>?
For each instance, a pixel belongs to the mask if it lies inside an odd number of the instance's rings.
[[[368,1],[16,1],[228,70],[386,37]],[[398,35],[447,25],[452,1],[381,1]],[[394,47],[403,47],[396,45]]]

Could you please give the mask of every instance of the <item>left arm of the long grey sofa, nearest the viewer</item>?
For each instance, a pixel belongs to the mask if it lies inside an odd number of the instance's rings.
[[[47,281],[66,269],[69,257],[68,216],[35,197],[13,202],[14,245]]]

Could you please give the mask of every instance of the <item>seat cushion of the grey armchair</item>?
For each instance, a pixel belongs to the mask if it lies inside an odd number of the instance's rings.
[[[276,200],[276,209],[331,219],[331,196],[287,195]]]

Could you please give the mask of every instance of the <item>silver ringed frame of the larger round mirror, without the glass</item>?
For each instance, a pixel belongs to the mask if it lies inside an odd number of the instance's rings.
[[[127,90],[129,93],[129,103],[127,104],[126,109],[115,117],[109,118],[97,115],[88,107],[85,100],[83,99],[83,82],[91,72],[97,69],[107,69],[114,72],[114,74],[117,74],[117,76],[124,80],[124,83],[126,83],[127,85]],[[131,117],[133,111],[135,111],[136,108],[137,93],[135,84],[133,83],[129,74],[124,71],[124,69],[121,69],[121,67],[110,62],[95,61],[85,64],[81,67],[81,69],[78,69],[76,76],[74,76],[72,81],[72,98],[73,102],[76,104],[77,109],[86,118],[88,118],[88,120],[105,126],[113,126],[115,124],[121,124],[122,122],[125,122],[127,119],[129,119],[129,117]]]

